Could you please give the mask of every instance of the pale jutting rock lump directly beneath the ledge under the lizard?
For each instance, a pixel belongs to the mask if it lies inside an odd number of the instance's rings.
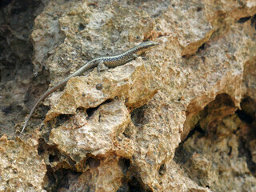
[[[76,162],[79,171],[89,154],[102,158],[116,153],[131,158],[133,141],[122,136],[130,123],[128,114],[122,102],[109,102],[99,106],[90,117],[83,112],[75,115],[70,122],[52,130],[49,140]]]

